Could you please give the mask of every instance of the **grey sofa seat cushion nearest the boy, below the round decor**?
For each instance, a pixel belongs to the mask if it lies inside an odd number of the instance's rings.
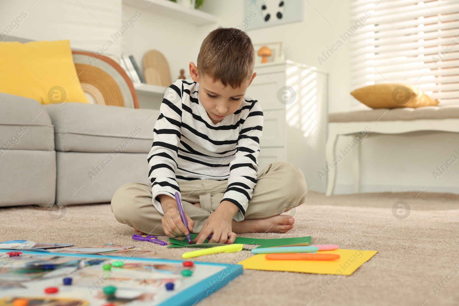
[[[56,151],[147,153],[158,110],[64,103],[45,105]]]

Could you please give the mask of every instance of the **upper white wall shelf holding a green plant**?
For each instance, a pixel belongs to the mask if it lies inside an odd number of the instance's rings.
[[[123,4],[196,25],[217,23],[217,17],[200,9],[187,8],[169,0],[123,0]]]

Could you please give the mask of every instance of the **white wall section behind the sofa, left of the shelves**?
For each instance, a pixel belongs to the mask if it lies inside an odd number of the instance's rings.
[[[21,12],[27,16],[14,23]],[[9,35],[25,39],[70,39],[74,49],[97,51],[120,27],[121,0],[0,2],[0,32],[10,32],[8,29],[12,28]],[[107,52],[119,55],[121,44],[114,43]]]

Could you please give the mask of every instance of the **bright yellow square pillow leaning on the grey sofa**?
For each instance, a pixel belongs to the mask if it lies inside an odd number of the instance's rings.
[[[0,42],[0,92],[41,104],[88,103],[69,40]]]

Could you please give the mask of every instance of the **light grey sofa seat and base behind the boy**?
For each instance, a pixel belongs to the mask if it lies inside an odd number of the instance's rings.
[[[110,202],[125,183],[148,184],[158,116],[0,93],[0,206]]]

